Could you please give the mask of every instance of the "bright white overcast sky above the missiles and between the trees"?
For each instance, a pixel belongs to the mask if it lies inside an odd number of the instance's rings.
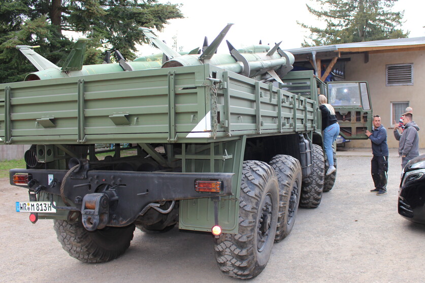
[[[184,51],[202,47],[204,37],[211,43],[227,23],[234,25],[227,33],[228,40],[236,48],[257,44],[274,45],[282,41],[282,49],[298,48],[309,35],[307,29],[297,24],[297,20],[307,25],[324,27],[307,11],[306,4],[314,5],[311,0],[267,0],[267,1],[234,1],[234,0],[158,0],[159,3],[182,4],[180,10],[184,19],[170,20],[170,24],[155,34],[161,40],[173,45],[173,37],[177,37],[177,46]],[[393,11],[404,10],[404,31],[410,31],[410,38],[425,37],[425,19],[423,9],[418,7],[417,0],[399,0]],[[218,52],[228,52],[225,40]],[[158,53],[158,50],[141,46],[138,55]]]

